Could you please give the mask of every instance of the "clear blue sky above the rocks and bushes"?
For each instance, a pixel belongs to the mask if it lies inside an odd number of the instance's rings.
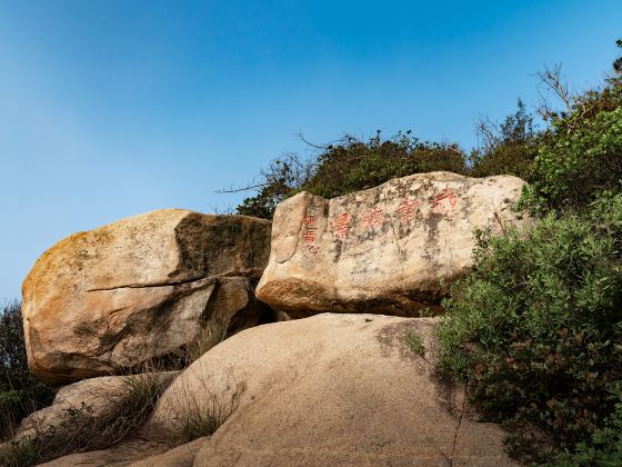
[[[618,1],[0,0],[0,300],[79,230],[243,197],[270,159],[411,129],[475,143],[563,63],[598,83]]]

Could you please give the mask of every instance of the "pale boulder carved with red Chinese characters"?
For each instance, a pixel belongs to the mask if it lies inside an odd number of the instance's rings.
[[[257,296],[293,318],[440,311],[447,286],[473,265],[473,229],[529,222],[511,211],[524,185],[430,172],[331,200],[298,193],[277,207]]]

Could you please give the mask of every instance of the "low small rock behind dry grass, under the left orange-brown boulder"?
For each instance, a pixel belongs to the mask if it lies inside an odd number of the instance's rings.
[[[88,417],[93,423],[104,423],[132,397],[132,387],[140,387],[141,380],[149,378],[151,385],[165,387],[179,371],[163,371],[150,375],[103,376],[64,386],[57,393],[51,406],[24,418],[14,439],[36,438],[50,433],[62,436],[76,435],[77,418]]]

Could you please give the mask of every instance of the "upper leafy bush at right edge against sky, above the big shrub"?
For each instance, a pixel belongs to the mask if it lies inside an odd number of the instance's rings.
[[[622,48],[622,41],[618,41]],[[569,96],[549,72],[548,79],[562,97],[565,110],[545,112],[551,127],[541,137],[532,185],[521,199],[532,212],[583,210],[604,190],[620,190],[622,179],[622,70],[602,89]]]

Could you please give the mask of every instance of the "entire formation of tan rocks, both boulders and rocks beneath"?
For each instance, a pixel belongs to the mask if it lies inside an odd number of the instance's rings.
[[[137,367],[210,322],[241,331],[179,374],[133,436],[47,465],[515,465],[505,433],[478,423],[464,387],[439,376],[438,318],[418,316],[440,311],[472,266],[475,228],[531,223],[511,211],[523,185],[418,173],[331,200],[299,193],[272,231],[160,210],[60,241],[23,282],[29,365],[43,379]],[[267,312],[283,322],[253,327]],[[18,438],[70,426],[82,403],[114,414],[123,381],[62,388]]]

